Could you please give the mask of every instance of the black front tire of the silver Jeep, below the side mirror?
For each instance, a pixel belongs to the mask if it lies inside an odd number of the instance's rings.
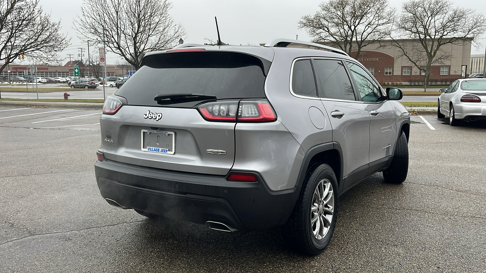
[[[400,132],[395,155],[393,155],[392,164],[388,169],[383,171],[383,178],[386,183],[401,184],[407,178],[408,173],[408,142],[407,136],[403,131]]]

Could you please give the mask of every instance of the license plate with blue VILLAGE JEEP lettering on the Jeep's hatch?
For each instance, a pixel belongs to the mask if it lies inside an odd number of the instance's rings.
[[[174,154],[174,132],[142,130],[142,151],[160,154]]]

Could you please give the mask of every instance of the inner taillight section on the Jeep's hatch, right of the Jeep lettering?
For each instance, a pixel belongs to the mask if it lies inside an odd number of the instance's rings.
[[[236,121],[238,101],[208,102],[197,106],[205,119],[211,121]]]

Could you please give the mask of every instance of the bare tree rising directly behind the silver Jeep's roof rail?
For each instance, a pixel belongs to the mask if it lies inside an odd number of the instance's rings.
[[[330,0],[319,5],[314,15],[299,21],[313,37],[313,42],[324,42],[340,48],[353,57],[377,40],[390,35],[395,10],[388,7],[388,0]]]

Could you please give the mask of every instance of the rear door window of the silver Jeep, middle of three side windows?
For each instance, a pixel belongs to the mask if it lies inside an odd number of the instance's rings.
[[[313,59],[315,79],[321,98],[355,101],[353,86],[343,62]]]

